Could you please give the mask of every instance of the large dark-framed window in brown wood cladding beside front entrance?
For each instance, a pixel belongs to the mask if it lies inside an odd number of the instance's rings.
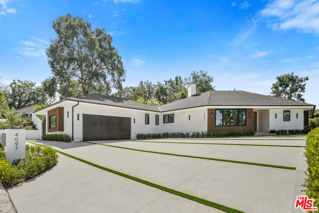
[[[215,126],[246,126],[246,110],[216,110]]]

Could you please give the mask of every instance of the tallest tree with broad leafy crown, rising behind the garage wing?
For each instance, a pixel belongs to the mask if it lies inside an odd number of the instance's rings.
[[[91,23],[70,13],[59,16],[52,27],[57,38],[51,40],[46,54],[59,83],[70,85],[76,80],[84,95],[110,94],[112,88],[122,89],[126,70],[106,28],[93,30]]]

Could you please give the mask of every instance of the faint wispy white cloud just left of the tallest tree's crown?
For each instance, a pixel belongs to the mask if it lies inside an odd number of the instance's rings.
[[[18,53],[25,57],[42,57],[46,58],[45,49],[50,42],[36,37],[30,37],[33,41],[20,41],[21,46],[16,48]]]

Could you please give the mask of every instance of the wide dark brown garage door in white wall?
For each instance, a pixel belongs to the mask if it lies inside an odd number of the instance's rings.
[[[83,114],[83,141],[131,139],[131,118]]]

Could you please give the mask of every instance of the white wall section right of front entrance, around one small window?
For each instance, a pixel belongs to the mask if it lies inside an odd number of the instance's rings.
[[[290,110],[290,121],[284,121],[284,110]],[[298,118],[297,114],[298,113]],[[275,118],[277,114],[277,118]],[[270,130],[303,129],[303,109],[270,110]]]

